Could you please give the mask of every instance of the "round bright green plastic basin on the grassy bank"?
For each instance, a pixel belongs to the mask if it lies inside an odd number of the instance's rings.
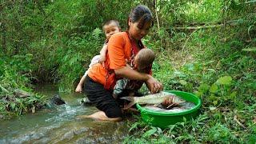
[[[141,112],[143,121],[149,123],[152,126],[166,128],[177,122],[183,122],[184,118],[186,118],[186,120],[190,120],[199,114],[199,109],[202,105],[202,102],[196,95],[176,90],[166,90],[166,92],[176,94],[188,102],[194,102],[195,106],[190,110],[184,110],[182,112],[166,113],[145,109],[137,103],[136,106]]]

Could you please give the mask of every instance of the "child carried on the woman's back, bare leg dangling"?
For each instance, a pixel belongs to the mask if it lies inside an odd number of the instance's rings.
[[[107,51],[107,43],[112,36],[112,34],[121,32],[121,28],[119,26],[119,22],[116,20],[110,20],[104,23],[102,26],[102,30],[104,31],[106,35],[106,41],[104,42],[104,45],[102,46],[102,50],[100,51],[100,55],[94,56],[92,60],[90,61],[89,69],[91,66],[93,66],[96,63],[102,63],[106,60],[106,51]],[[88,73],[88,70],[86,70],[86,73],[82,76],[80,79],[80,82],[78,83],[78,86],[75,89],[75,92],[82,92],[82,85],[85,82],[86,75]]]

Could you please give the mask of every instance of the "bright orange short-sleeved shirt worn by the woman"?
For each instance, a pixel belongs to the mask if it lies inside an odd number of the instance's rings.
[[[97,63],[89,70],[88,76],[94,82],[106,84],[106,75],[108,71],[104,68],[109,67],[110,70],[117,70],[126,66],[126,59],[130,59],[131,43],[126,32],[113,34],[108,42],[108,52],[106,54],[106,62]],[[115,83],[112,83],[114,85]]]

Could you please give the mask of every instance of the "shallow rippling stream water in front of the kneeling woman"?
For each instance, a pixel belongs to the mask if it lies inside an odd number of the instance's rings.
[[[48,98],[58,94],[58,88],[52,85],[38,86],[36,91]],[[0,143],[119,143],[128,134],[125,121],[100,122],[76,118],[97,111],[94,106],[80,106],[83,94],[59,95],[66,105],[1,121]]]

